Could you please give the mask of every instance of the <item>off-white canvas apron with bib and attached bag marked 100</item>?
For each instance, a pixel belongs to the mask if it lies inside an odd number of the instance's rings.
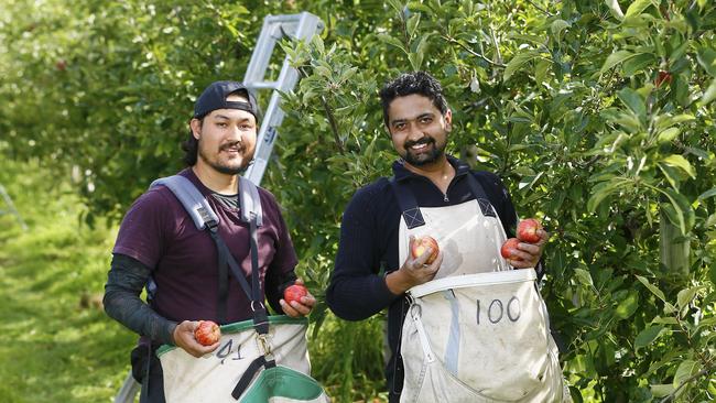
[[[484,199],[420,208],[424,226],[400,224],[400,262],[409,236],[430,235],[443,251],[435,279],[408,291],[401,402],[569,402],[533,269],[500,255],[505,230]]]

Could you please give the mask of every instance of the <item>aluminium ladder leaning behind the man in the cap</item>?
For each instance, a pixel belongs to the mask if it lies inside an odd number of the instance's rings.
[[[253,154],[253,163],[249,165],[243,174],[245,177],[253,182],[257,186],[261,184],[261,178],[265,172],[273,144],[279,137],[276,128],[283,121],[284,112],[280,108],[281,92],[293,90],[299,81],[299,72],[291,67],[289,56],[283,59],[283,65],[275,81],[267,81],[265,74],[271,62],[271,54],[276,42],[284,36],[293,40],[310,40],[313,35],[323,30],[323,22],[318,17],[302,12],[299,14],[267,15],[263,19],[259,40],[251,54],[251,61],[243,76],[243,85],[256,95],[258,90],[270,89],[271,98],[265,109],[257,138],[257,148]],[[132,377],[131,370],[127,374],[122,386],[120,388],[115,403],[132,403],[141,385]]]

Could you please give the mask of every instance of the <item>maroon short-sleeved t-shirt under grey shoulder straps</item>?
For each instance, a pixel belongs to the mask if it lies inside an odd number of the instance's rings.
[[[219,235],[246,275],[251,273],[249,228],[239,208],[230,208],[211,197],[191,168],[180,172],[206,197],[219,217]],[[259,188],[263,225],[257,237],[262,294],[267,271],[283,276],[297,263],[281,210],[271,193]],[[113,253],[134,258],[152,269],[156,294],[152,307],[175,320],[218,320],[218,260],[216,244],[206,230],[194,225],[172,190],[156,186],[140,196],[119,228]],[[250,281],[249,281],[250,284]],[[238,281],[229,276],[228,322],[251,317],[250,299]]]

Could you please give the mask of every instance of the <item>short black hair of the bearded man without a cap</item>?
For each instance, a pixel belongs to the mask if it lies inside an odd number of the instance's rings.
[[[441,113],[447,112],[447,101],[443,96],[443,86],[435,77],[425,72],[403,73],[392,81],[387,83],[380,90],[380,101],[383,106],[383,122],[388,126],[388,108],[398,97],[422,95],[430,99]]]

